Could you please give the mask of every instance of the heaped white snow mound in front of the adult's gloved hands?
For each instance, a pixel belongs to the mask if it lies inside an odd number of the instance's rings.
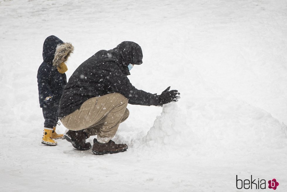
[[[189,150],[278,147],[286,145],[286,125],[239,100],[217,98],[190,103],[185,109],[171,103],[163,106],[143,141],[148,146]]]

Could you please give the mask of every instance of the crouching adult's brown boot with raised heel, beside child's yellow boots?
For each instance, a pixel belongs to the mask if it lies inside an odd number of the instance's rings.
[[[87,136],[86,132],[83,130],[80,131],[71,131],[69,130],[65,135],[64,138],[70,142],[73,147],[78,150],[85,151],[92,147],[92,145],[88,142],[86,143],[86,139],[89,137]]]

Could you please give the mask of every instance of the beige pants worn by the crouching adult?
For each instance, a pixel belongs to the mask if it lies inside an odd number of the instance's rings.
[[[111,93],[86,100],[80,109],[61,119],[69,130],[83,130],[98,135],[98,142],[107,143],[116,134],[119,124],[129,117],[128,99],[119,93]]]

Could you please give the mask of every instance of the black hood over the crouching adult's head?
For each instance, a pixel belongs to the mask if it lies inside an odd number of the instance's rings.
[[[141,47],[132,41],[124,41],[120,43],[116,48],[111,50],[112,54],[116,56],[117,63],[122,72],[126,75],[130,75],[128,65],[140,65],[143,63],[143,52]]]

